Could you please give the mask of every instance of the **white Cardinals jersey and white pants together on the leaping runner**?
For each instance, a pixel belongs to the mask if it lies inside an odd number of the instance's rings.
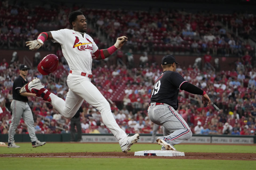
[[[91,74],[92,54],[98,50],[97,45],[89,35],[82,36],[81,33],[71,29],[51,31],[51,34],[53,42],[61,44],[62,53],[72,70],[67,77],[69,92],[65,101],[51,93],[49,95],[51,104],[62,116],[70,119],[86,100],[101,113],[103,123],[116,137],[120,146],[125,146],[128,142],[127,134],[115,121],[108,101],[91,83],[89,77],[81,75],[81,71]]]

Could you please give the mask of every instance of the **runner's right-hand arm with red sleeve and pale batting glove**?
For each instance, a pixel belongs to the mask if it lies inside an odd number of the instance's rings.
[[[113,46],[109,47],[108,49],[102,49],[102,50],[98,49],[95,53],[92,54],[92,57],[95,60],[105,59],[109,57],[111,54],[113,54],[117,49],[121,48],[126,41],[127,41],[126,36],[118,37],[117,41]]]

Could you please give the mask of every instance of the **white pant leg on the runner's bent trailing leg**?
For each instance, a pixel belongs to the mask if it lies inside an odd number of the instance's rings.
[[[75,94],[70,89],[67,92],[65,101],[53,93],[51,93],[49,96],[51,98],[51,105],[53,105],[53,107],[67,119],[71,119],[83,103],[83,98]]]

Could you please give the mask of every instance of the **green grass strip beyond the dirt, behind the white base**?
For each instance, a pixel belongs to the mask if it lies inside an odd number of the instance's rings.
[[[44,146],[32,148],[31,143],[16,143],[20,148],[1,147],[0,154],[15,153],[52,153],[52,152],[121,152],[118,143],[46,143]],[[159,150],[157,144],[136,143],[131,151]],[[256,153],[255,146],[242,145],[175,145],[182,152],[222,152],[222,153]]]

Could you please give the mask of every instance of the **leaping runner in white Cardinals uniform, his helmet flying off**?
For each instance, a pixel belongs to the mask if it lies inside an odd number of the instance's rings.
[[[69,14],[69,22],[73,29],[43,32],[39,34],[37,40],[26,42],[30,50],[37,50],[47,39],[61,44],[63,56],[70,67],[70,74],[67,77],[69,92],[66,100],[64,101],[46,90],[38,78],[26,84],[21,89],[21,93],[32,92],[37,96],[43,97],[44,100],[49,101],[59,113],[68,119],[75,115],[83,100],[86,100],[99,110],[103,123],[117,138],[122,151],[127,153],[130,147],[139,139],[139,134],[128,137],[115,121],[108,101],[97,87],[91,83],[93,76],[91,73],[92,59],[102,60],[109,57],[123,46],[127,41],[127,37],[119,37],[110,48],[99,50],[93,39],[86,34],[87,23],[82,12],[71,12]]]

